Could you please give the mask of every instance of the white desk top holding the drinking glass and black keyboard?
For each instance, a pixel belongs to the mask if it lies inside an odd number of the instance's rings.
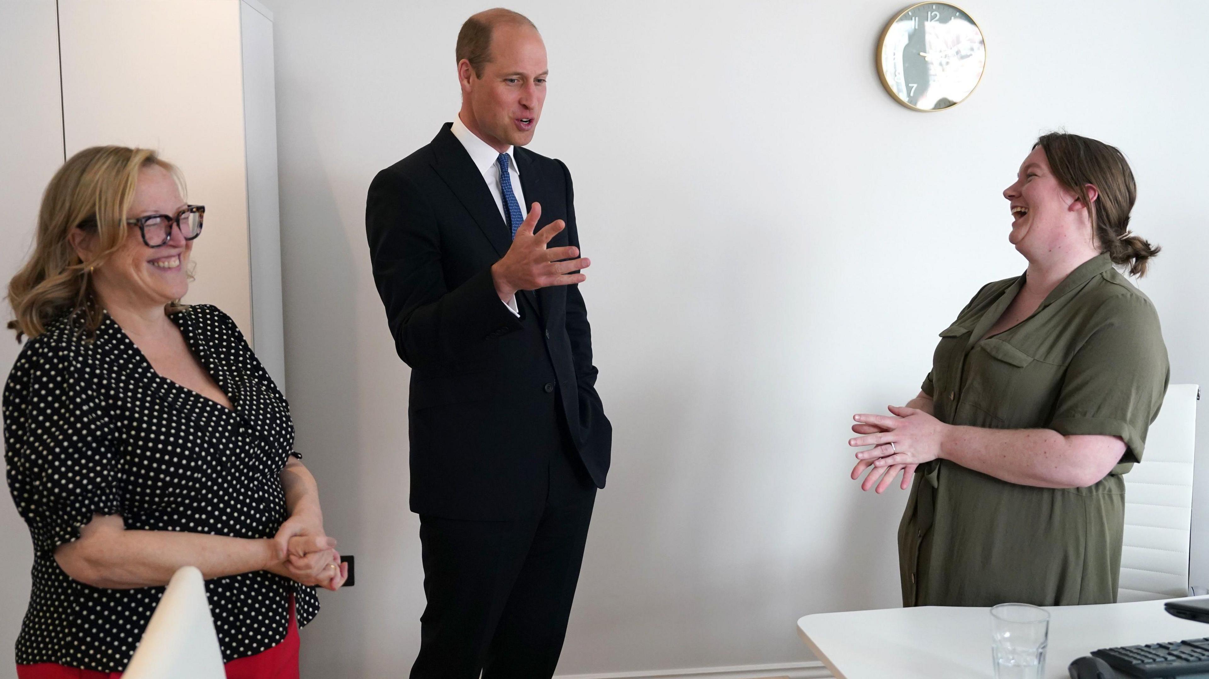
[[[821,613],[798,633],[835,679],[993,677],[990,609],[920,607]],[[1209,625],[1168,615],[1163,602],[1053,607],[1046,678],[1095,649],[1209,637]]]

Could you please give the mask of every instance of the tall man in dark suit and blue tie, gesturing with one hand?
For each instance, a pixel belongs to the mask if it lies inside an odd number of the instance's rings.
[[[411,677],[534,679],[562,650],[612,428],[578,289],[589,261],[571,174],[521,147],[545,99],[542,36],[488,10],[462,27],[457,60],[457,118],[378,173],[365,217],[411,366],[428,599]]]

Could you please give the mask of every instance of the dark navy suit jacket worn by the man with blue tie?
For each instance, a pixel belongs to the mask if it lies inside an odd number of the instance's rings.
[[[553,448],[572,447],[603,488],[612,426],[578,286],[519,292],[521,318],[499,301],[491,266],[510,232],[450,127],[380,172],[365,210],[374,280],[412,371],[411,509],[516,518],[540,511]],[[521,147],[513,155],[526,202],[542,204],[537,227],[567,225],[550,246],[578,248],[566,166]]]

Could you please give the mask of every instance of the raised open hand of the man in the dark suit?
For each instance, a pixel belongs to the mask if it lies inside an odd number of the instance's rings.
[[[516,230],[516,237],[513,238],[508,253],[491,267],[491,278],[496,283],[496,292],[501,300],[510,300],[517,290],[572,285],[588,279],[582,273],[571,273],[591,266],[588,257],[579,256],[579,248],[573,245],[546,248],[550,239],[567,225],[560,219],[548,224],[540,232],[533,233],[540,216],[542,204],[533,203],[528,216]]]

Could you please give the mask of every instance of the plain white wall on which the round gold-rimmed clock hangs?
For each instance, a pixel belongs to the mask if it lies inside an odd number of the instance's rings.
[[[303,632],[312,675],[397,675],[418,644],[407,370],[370,277],[365,190],[458,105],[481,2],[268,0],[287,356],[299,445],[357,587]],[[848,480],[851,413],[914,395],[937,332],[1014,275],[1000,196],[1040,132],[1122,147],[1173,379],[1209,384],[1209,110],[1197,1],[968,0],[965,104],[881,89],[901,0],[521,1],[550,94],[532,149],[575,179],[615,426],[561,673],[808,660],[798,616],[898,603],[902,493]],[[1209,419],[1202,417],[1202,426]],[[1204,440],[1204,437],[1202,437]]]

